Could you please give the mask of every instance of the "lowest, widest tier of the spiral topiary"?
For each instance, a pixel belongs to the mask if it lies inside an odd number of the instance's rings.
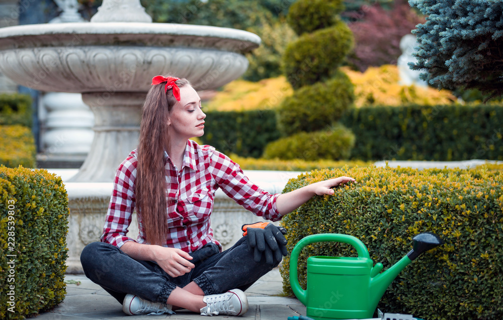
[[[270,142],[264,149],[267,159],[348,159],[355,144],[355,135],[343,125],[334,125],[331,130],[300,132],[289,137]]]

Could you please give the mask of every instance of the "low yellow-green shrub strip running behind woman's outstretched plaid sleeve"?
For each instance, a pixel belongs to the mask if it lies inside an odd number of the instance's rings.
[[[243,170],[272,170],[272,171],[311,171],[314,169],[326,168],[353,168],[367,167],[372,162],[365,161],[332,161],[332,160],[316,160],[304,161],[302,159],[281,160],[281,159],[264,159],[241,157],[236,154],[230,154],[229,157]]]

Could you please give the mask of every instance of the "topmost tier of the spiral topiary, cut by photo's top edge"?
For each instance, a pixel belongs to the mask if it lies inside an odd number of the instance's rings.
[[[301,0],[290,6],[287,22],[301,35],[333,26],[343,10],[341,0]]]

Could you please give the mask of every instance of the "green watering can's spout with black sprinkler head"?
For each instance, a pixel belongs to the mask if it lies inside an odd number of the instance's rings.
[[[403,270],[403,268],[405,268],[422,253],[444,244],[441,238],[431,232],[423,232],[417,234],[412,238],[412,241],[412,250],[407,253],[405,257],[392,265],[388,270],[383,273],[379,273],[382,270],[382,264],[380,263],[376,264],[374,268],[372,268],[370,280],[370,296],[373,297],[374,301],[372,301],[372,304],[376,307],[382,295],[384,294],[384,291],[386,291],[388,286],[391,284],[391,282],[393,282],[393,280]]]

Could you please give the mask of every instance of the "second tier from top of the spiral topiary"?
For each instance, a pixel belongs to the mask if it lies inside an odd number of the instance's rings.
[[[288,81],[298,89],[328,79],[353,45],[353,33],[342,21],[330,28],[303,34],[285,50],[283,61]]]

